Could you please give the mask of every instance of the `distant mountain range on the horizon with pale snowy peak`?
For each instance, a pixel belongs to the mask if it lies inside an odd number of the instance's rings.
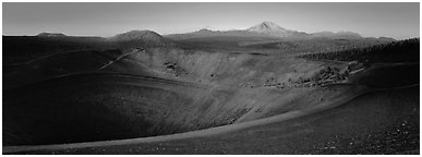
[[[71,37],[61,33],[41,33],[39,37]],[[125,43],[130,45],[167,45],[173,44],[177,40],[196,41],[196,43],[219,43],[228,44],[232,43],[239,46],[251,45],[268,45],[277,44],[280,40],[335,40],[335,39],[350,39],[350,40],[377,40],[377,41],[394,41],[393,38],[364,38],[361,35],[352,32],[319,32],[308,34],[304,32],[298,32],[284,28],[273,22],[263,22],[246,29],[233,29],[233,31],[210,31],[200,29],[185,34],[170,34],[161,36],[153,31],[130,31],[126,33],[118,34],[112,37],[101,38],[104,40],[113,43]],[[273,47],[273,46],[272,46]]]

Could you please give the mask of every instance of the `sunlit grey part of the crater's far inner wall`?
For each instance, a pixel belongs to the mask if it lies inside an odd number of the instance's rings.
[[[136,73],[138,69],[144,69],[154,76],[169,80],[262,87],[267,80],[272,78],[275,82],[291,84],[291,81],[310,77],[328,65],[340,69],[346,67],[341,63],[275,56],[157,48],[131,55],[108,68],[111,71],[126,73]]]

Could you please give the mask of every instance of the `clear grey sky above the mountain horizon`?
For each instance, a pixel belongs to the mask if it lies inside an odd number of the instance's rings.
[[[3,35],[41,32],[109,37],[132,29],[179,34],[243,29],[274,22],[305,33],[419,37],[419,3],[2,3]]]

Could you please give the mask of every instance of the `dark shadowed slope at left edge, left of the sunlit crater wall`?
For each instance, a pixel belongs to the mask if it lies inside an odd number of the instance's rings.
[[[136,51],[135,51],[136,52]],[[35,83],[50,77],[98,71],[131,52],[120,50],[76,50],[52,53],[26,62],[3,65],[3,88]],[[138,74],[141,70],[138,70]]]

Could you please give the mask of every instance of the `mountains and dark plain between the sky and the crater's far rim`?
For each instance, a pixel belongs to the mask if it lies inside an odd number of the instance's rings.
[[[40,53],[81,49],[131,50],[134,48],[180,48],[186,50],[298,53],[328,52],[364,48],[395,41],[393,38],[362,37],[351,32],[319,32],[308,34],[263,22],[245,29],[200,29],[185,34],[159,35],[152,31],[130,31],[112,37],[69,36],[41,33],[34,36],[3,36],[9,60],[23,61]],[[15,58],[14,56],[20,56]],[[22,58],[22,56],[26,56]]]

